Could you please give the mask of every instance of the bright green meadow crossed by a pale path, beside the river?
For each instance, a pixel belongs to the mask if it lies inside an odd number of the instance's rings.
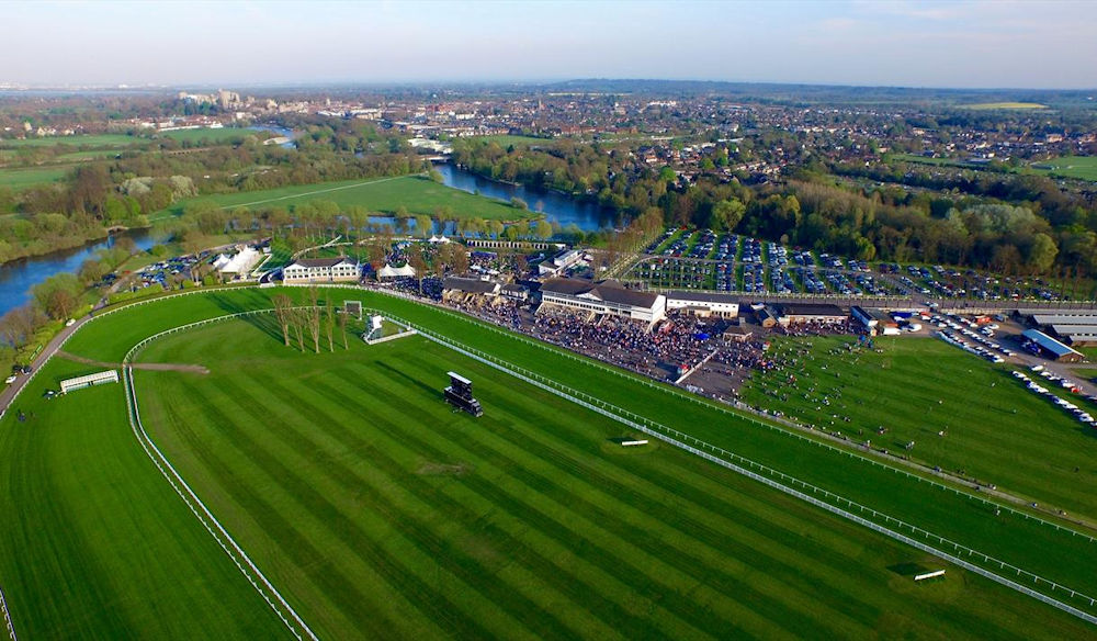
[[[196,200],[213,202],[223,209],[238,206],[290,207],[314,200],[326,200],[340,206],[362,205],[370,211],[389,215],[394,214],[400,206],[407,207],[410,214],[426,215],[434,215],[439,207],[444,206],[450,207],[454,216],[464,218],[516,221],[532,215],[529,212],[516,210],[510,206],[510,203],[451,189],[426,177],[402,176],[301,184],[264,191],[188,199],[179,201],[152,217],[162,217],[166,214],[180,215],[188,203]]]

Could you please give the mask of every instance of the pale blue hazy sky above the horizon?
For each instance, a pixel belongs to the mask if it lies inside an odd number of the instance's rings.
[[[675,78],[1097,88],[1094,0],[0,7],[8,23],[0,82]]]

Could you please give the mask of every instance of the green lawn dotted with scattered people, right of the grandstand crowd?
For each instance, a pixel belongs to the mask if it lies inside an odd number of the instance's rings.
[[[1097,520],[1088,491],[1097,483],[1097,432],[1029,393],[1009,368],[930,338],[877,338],[882,353],[847,351],[851,342],[780,339],[774,358],[799,364],[755,374],[744,401]]]

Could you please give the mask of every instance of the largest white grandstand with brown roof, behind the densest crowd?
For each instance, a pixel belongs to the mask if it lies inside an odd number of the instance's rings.
[[[648,323],[661,319],[667,313],[667,297],[663,294],[629,290],[614,280],[550,279],[541,283],[541,304]]]

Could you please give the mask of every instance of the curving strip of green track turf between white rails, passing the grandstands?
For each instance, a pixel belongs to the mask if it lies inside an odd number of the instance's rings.
[[[301,295],[301,290],[290,290]],[[81,330],[69,349],[89,357],[121,358],[129,345],[160,329],[190,319],[269,306],[270,290],[242,290],[184,296],[150,304],[147,308],[120,312],[117,322],[92,324]],[[931,530],[935,535],[970,546],[1019,565],[1047,578],[1087,594],[1097,593],[1097,576],[1079,559],[1094,558],[1097,544],[1088,538],[1027,519],[1014,513],[993,514],[981,498],[920,482],[894,470],[870,464],[813,445],[789,432],[774,430],[720,412],[704,403],[679,398],[634,376],[613,373],[603,366],[574,358],[540,344],[511,338],[482,324],[410,302],[360,290],[331,290],[330,295],[381,304],[415,323],[459,336],[466,345],[505,355],[507,360],[540,371],[574,389],[597,391],[600,398],[643,413],[664,425],[688,430],[710,443],[724,447],[799,480],[840,493],[882,513]],[[327,294],[326,294],[327,295]],[[126,322],[140,314],[140,323]],[[1050,414],[1058,409],[1047,407]],[[1013,490],[999,483],[1003,490]],[[871,518],[883,521],[883,517]],[[891,521],[887,521],[891,522]],[[935,542],[936,539],[932,539]],[[1062,593],[1060,593],[1062,594]],[[1086,604],[1088,605],[1088,603]]]

